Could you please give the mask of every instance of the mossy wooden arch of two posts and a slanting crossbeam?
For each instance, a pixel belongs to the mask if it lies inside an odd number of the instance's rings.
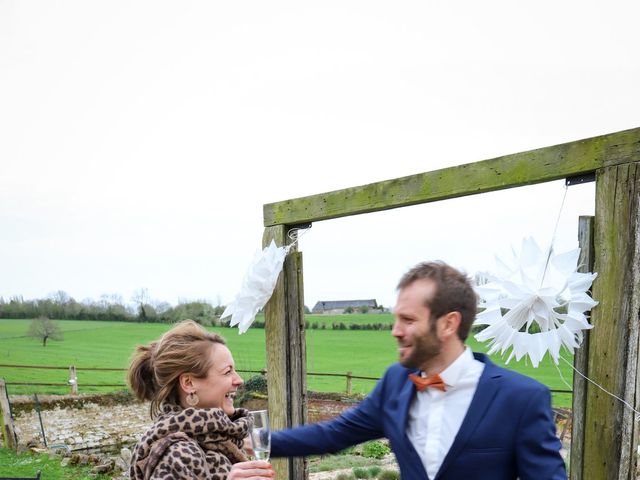
[[[640,128],[491,160],[264,205],[263,244],[320,220],[377,212],[582,175],[595,176],[594,269],[586,373],[638,409],[640,331]],[[288,255],[266,306],[269,411],[274,429],[305,423],[302,254]],[[583,351],[584,350],[584,351]],[[636,478],[636,415],[598,388],[574,392],[572,479]],[[576,385],[576,389],[578,386]],[[578,408],[579,411],[576,410]],[[307,478],[298,460],[277,460],[278,478]]]

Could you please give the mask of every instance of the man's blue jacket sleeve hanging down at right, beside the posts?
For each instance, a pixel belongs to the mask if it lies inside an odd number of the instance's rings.
[[[521,480],[566,480],[567,472],[560,455],[562,444],[553,423],[549,389],[531,395],[517,432],[516,461]]]

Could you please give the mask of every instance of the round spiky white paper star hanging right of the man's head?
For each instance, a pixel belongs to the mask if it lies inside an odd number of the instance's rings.
[[[522,241],[520,255],[497,260],[497,274],[476,287],[480,307],[476,325],[487,327],[475,335],[489,342],[489,354],[512,348],[507,359],[528,355],[537,367],[546,352],[558,364],[560,348],[572,353],[582,343],[583,330],[592,328],[585,312],[598,304],[587,290],[597,273],[580,273],[580,249],[556,255],[543,252],[532,238]]]

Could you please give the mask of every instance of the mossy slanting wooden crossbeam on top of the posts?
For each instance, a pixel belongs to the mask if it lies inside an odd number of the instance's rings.
[[[295,225],[542,183],[640,157],[640,128],[359,187],[265,204],[264,225]]]

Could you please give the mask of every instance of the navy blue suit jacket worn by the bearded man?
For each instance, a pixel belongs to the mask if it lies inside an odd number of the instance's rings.
[[[555,433],[549,389],[532,378],[485,364],[460,431],[435,479],[566,479]],[[358,406],[328,422],[273,432],[273,457],[334,453],[358,443],[387,437],[403,480],[429,477],[407,437],[407,417],[416,373],[392,365]]]

